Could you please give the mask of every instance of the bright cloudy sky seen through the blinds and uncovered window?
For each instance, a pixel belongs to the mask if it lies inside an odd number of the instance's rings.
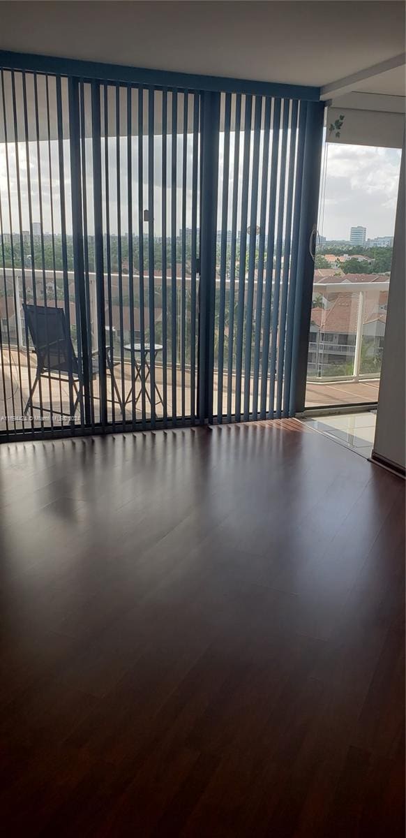
[[[261,132],[262,133],[262,132]],[[290,132],[288,132],[288,148],[290,144]],[[27,178],[27,157],[24,143],[19,143],[19,171],[20,171],[20,194],[22,205],[22,226],[23,230],[29,230],[28,216],[28,178]],[[51,168],[53,180],[54,199],[54,230],[60,232],[59,207],[59,159],[57,142],[51,141]],[[220,188],[218,190],[218,229],[221,226],[221,202],[222,202],[222,172],[224,163],[224,134],[220,133],[219,147],[219,170]],[[319,214],[319,233],[327,239],[349,240],[350,228],[362,225],[367,228],[367,238],[374,238],[378,235],[393,235],[394,219],[396,213],[396,201],[398,194],[398,174],[400,168],[400,150],[389,148],[376,148],[365,146],[350,146],[338,143],[327,143],[326,151],[323,154],[323,171],[321,174],[321,202]],[[0,194],[3,231],[9,232],[8,214],[8,177],[7,160],[4,143],[0,145]],[[86,177],[88,202],[89,202],[89,233],[93,232],[92,223],[92,173],[90,161],[90,140],[86,140],[86,154],[88,171]],[[121,137],[120,142],[120,169],[121,169],[121,232],[127,232],[127,203],[126,203],[126,139]],[[242,184],[242,159],[244,151],[243,137],[241,137],[240,166],[239,166],[239,194]],[[31,179],[31,194],[33,207],[33,221],[39,221],[39,176],[38,176],[38,149],[36,143],[28,143],[29,171]],[[260,159],[263,153],[263,137],[260,140]],[[132,139],[133,158],[133,231],[136,235],[138,224],[138,194],[137,194],[137,139]],[[39,163],[41,168],[42,199],[44,204],[44,231],[51,230],[50,223],[50,191],[49,191],[49,148],[48,143],[39,142]],[[177,135],[177,234],[182,226],[182,134]],[[193,135],[188,134],[187,144],[187,178],[186,178],[186,225],[191,226],[192,215],[192,162],[193,162]],[[144,167],[143,167],[143,207],[148,207],[148,148],[147,138],[144,141]],[[234,158],[234,133],[230,135],[230,160]],[[70,218],[70,171],[69,171],[69,143],[64,142],[64,184],[67,194],[67,231],[71,233]],[[8,143],[8,166],[9,181],[12,204],[13,231],[18,232],[18,184],[16,177],[16,150],[14,143]],[[252,167],[252,144],[251,163]],[[116,171],[117,155],[116,141],[109,139],[109,172],[110,172],[110,231],[117,232],[117,195],[116,195]],[[167,171],[170,177],[171,172],[171,145],[168,137],[167,145]],[[162,175],[162,137],[154,137],[154,181],[161,183]],[[170,183],[170,181],[168,182]],[[232,198],[233,198],[234,172],[233,165],[229,167],[229,200],[227,228],[231,227]],[[269,179],[268,179],[269,184]],[[258,205],[260,205],[260,189]],[[249,196],[250,197],[250,196]],[[154,222],[155,235],[161,235],[162,226],[162,189],[157,185],[154,190]],[[105,209],[105,207],[104,207]],[[241,204],[239,200],[237,229],[240,228]],[[170,234],[171,219],[171,190],[167,189],[167,224],[168,235]],[[257,223],[259,218],[257,218]],[[147,232],[147,223],[144,231]]]

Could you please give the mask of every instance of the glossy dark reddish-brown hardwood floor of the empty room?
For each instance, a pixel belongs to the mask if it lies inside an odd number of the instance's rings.
[[[404,484],[286,421],[0,447],[4,835],[403,836]]]

